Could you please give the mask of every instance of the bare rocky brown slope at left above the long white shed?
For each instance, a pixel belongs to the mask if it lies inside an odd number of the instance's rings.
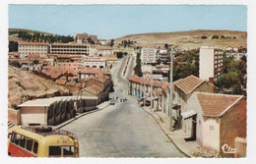
[[[69,89],[45,80],[32,72],[8,66],[8,107],[15,107],[36,97],[65,95]]]

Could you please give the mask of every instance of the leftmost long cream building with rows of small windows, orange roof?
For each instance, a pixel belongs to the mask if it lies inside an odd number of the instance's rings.
[[[29,54],[39,54],[46,56],[49,51],[49,45],[41,42],[21,42],[18,46],[20,56],[27,57]]]

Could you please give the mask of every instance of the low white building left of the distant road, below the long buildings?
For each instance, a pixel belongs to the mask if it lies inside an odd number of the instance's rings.
[[[106,60],[99,57],[86,57],[83,59],[82,65],[86,68],[104,69],[106,67]]]

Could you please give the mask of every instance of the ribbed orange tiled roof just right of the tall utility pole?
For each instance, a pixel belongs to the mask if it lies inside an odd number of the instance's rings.
[[[175,85],[180,88],[185,94],[189,94],[203,82],[205,81],[192,75],[185,79],[182,79],[182,81],[176,82]]]

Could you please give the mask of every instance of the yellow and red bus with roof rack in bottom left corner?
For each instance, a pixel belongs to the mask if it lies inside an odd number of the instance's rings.
[[[22,126],[13,130],[8,154],[14,157],[79,157],[78,137],[41,125]]]

